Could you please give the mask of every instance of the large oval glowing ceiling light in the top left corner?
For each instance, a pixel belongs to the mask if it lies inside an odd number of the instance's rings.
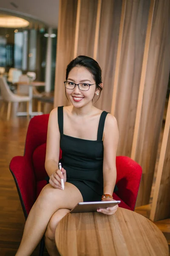
[[[4,28],[23,28],[29,25],[28,20],[10,15],[0,15],[0,27]]]

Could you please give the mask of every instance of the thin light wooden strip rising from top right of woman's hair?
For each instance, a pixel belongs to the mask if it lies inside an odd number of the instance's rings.
[[[98,44],[99,44],[99,28],[100,28],[101,9],[102,9],[102,0],[98,0],[96,29],[95,29],[95,37],[94,37],[94,55],[93,55],[93,58],[95,60],[97,58],[97,50],[98,50]]]

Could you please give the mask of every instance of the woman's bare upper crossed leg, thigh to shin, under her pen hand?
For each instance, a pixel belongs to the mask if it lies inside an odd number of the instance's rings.
[[[79,189],[71,183],[66,182],[64,190],[55,189],[50,184],[46,185],[28,215],[16,256],[31,255],[44,235],[51,217],[57,210],[71,210],[82,201],[83,198]]]

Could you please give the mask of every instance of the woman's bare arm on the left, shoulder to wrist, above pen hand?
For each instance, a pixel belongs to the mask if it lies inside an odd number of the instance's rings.
[[[58,126],[58,113],[57,108],[54,108],[51,111],[48,120],[47,148],[45,156],[45,170],[49,177],[54,171],[59,169],[59,142],[60,133]]]

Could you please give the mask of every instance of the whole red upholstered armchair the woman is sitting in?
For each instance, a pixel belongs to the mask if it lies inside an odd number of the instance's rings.
[[[31,207],[47,184],[45,177],[45,151],[49,114],[34,116],[29,123],[24,156],[13,157],[9,165],[17,186],[24,216],[27,218]],[[60,150],[59,159],[62,157]],[[136,198],[142,176],[142,168],[129,157],[116,157],[118,191],[113,198],[121,200],[119,207],[135,209]],[[41,242],[41,253],[43,251]]]

